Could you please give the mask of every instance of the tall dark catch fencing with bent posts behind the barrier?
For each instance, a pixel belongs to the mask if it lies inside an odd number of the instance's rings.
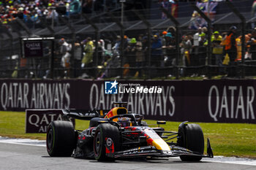
[[[155,1],[154,1],[155,2]],[[153,3],[153,2],[152,2]],[[216,4],[214,4],[216,3]],[[248,41],[246,34],[252,33],[255,16],[251,14],[252,0],[222,1],[212,3],[179,3],[176,14],[170,15],[170,8],[148,8],[122,10],[116,6],[103,12],[82,13],[63,16],[57,19],[38,18],[37,22],[26,23],[16,19],[1,25],[1,78],[170,78],[180,77],[214,77],[225,75],[232,67],[236,77],[256,75],[256,49],[253,39]],[[154,4],[154,3],[153,3]],[[203,11],[210,5],[217,9]],[[54,10],[54,9],[53,9]],[[123,17],[121,17],[123,16]],[[186,48],[187,39],[191,41],[197,32],[196,28],[206,26],[207,45],[190,45]],[[223,64],[225,50],[222,52],[222,63],[217,63],[211,43],[214,31],[227,33],[230,26],[238,28],[238,56],[236,64]],[[173,29],[173,31],[172,31]],[[173,46],[166,49],[153,47],[154,35],[165,39],[162,31],[172,33]],[[141,37],[140,34],[142,34]],[[117,36],[120,36],[119,48],[115,49]],[[37,58],[24,58],[23,38],[54,37],[53,42],[43,42],[43,55]],[[86,41],[91,37],[94,42],[92,60],[83,64]],[[127,38],[125,38],[127,37]],[[136,43],[132,43],[132,38]],[[252,37],[253,38],[253,37]],[[59,53],[60,40],[69,43],[70,50],[67,62],[64,54]],[[97,43],[98,42],[98,43]],[[142,42],[138,47],[137,42]],[[52,44],[53,43],[53,44]],[[162,42],[164,43],[164,42]],[[191,42],[192,44],[194,42]],[[249,47],[251,45],[251,47]]]

